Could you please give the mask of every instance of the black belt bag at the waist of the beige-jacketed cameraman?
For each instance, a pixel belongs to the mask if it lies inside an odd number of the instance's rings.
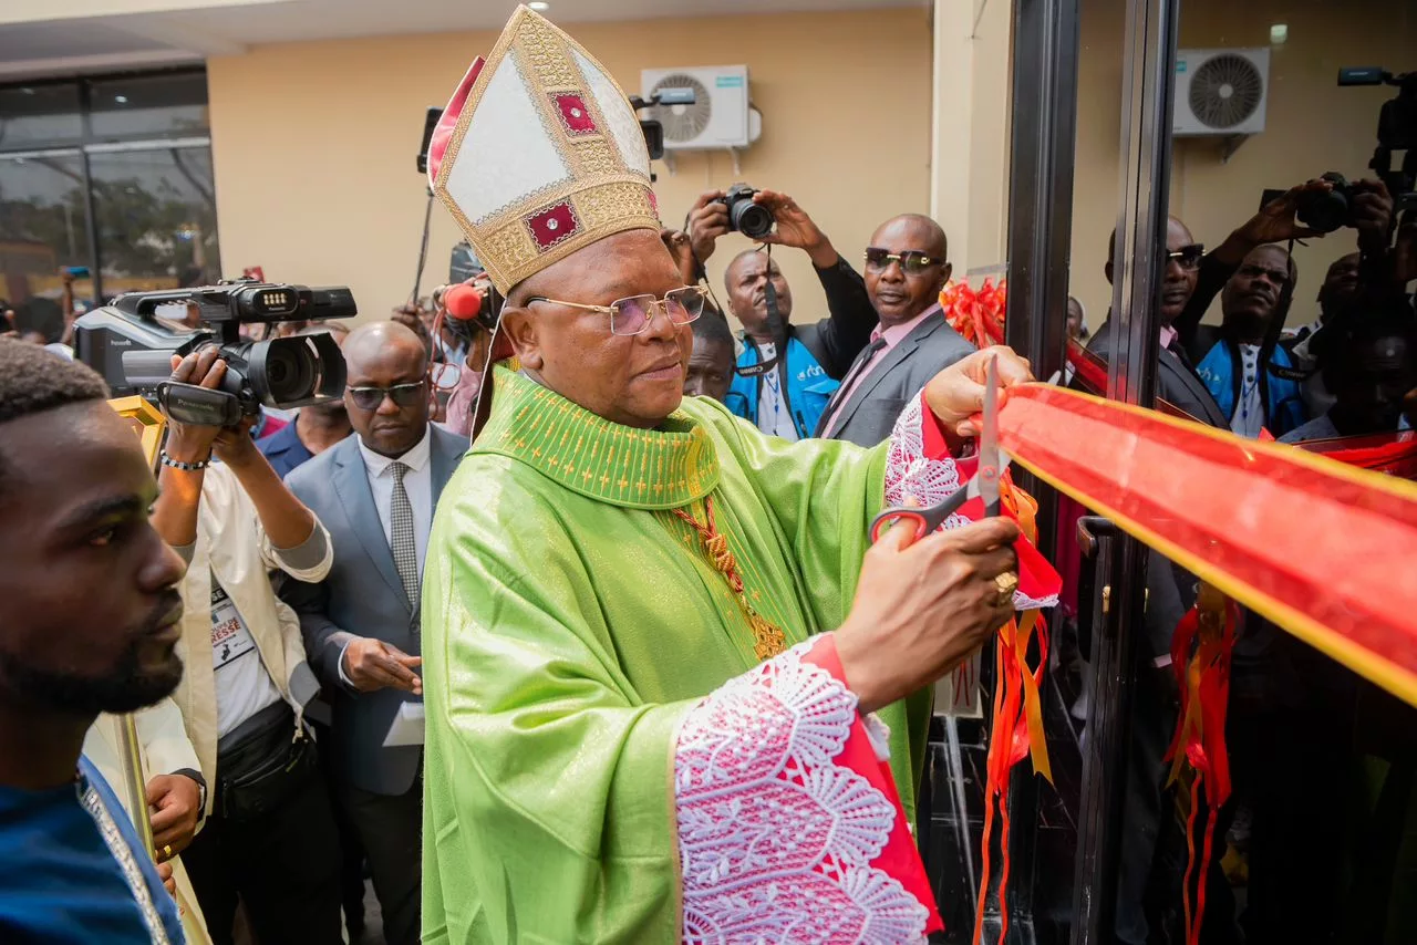
[[[256,820],[317,776],[315,742],[283,701],[262,708],[217,747],[215,810],[227,820]]]

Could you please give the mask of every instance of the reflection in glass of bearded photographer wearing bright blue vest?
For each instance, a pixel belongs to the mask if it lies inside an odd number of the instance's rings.
[[[1292,374],[1294,360],[1278,344],[1297,281],[1294,259],[1282,247],[1260,247],[1220,293],[1220,327],[1197,329],[1197,339],[1209,340],[1200,380],[1241,436],[1253,439],[1261,429],[1278,436],[1306,418],[1299,383],[1285,375]]]

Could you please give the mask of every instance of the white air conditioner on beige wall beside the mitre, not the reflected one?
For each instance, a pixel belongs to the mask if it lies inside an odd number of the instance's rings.
[[[761,119],[748,106],[747,65],[642,69],[645,99],[666,88],[690,88],[693,105],[656,105],[648,116],[665,126],[666,150],[747,147],[758,140]]]

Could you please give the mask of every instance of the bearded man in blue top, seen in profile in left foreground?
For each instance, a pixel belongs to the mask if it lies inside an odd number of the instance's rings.
[[[153,853],[79,757],[181,679],[157,483],[82,364],[0,339],[0,941],[183,941]]]

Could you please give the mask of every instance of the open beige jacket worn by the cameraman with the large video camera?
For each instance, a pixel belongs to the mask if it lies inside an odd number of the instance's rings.
[[[255,640],[261,662],[300,724],[305,706],[319,691],[315,673],[305,663],[305,640],[295,611],[271,589],[269,572],[281,570],[299,581],[319,582],[330,572],[334,548],[315,520],[315,533],[299,548],[276,550],[261,527],[256,507],[235,473],[222,463],[207,469],[197,511],[197,541],[177,553],[187,558],[181,582],[183,619],[177,655],[183,662],[181,686],[173,701],[187,724],[207,779],[207,813],[217,796],[217,677],[211,664],[211,575],[227,591]],[[307,560],[313,558],[313,561]]]

